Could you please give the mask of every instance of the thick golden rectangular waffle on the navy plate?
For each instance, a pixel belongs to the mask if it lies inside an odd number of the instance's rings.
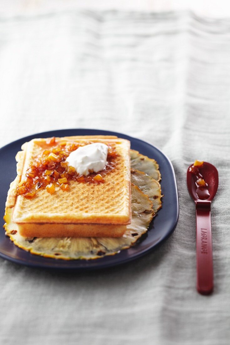
[[[103,184],[70,181],[68,192],[57,188],[55,194],[50,195],[41,189],[35,198],[27,199],[16,195],[17,184],[41,155],[47,139],[33,139],[23,144],[16,156],[18,175],[10,186],[6,204],[13,208],[13,221],[18,224],[20,234],[27,237],[122,236],[125,225],[131,221],[130,142],[109,136],[56,138],[57,144],[63,140],[115,145],[116,168],[104,175]]]

